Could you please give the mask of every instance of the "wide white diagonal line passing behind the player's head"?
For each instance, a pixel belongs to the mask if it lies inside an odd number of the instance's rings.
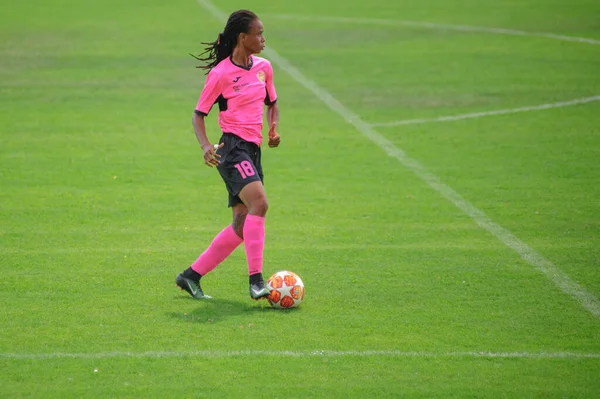
[[[208,0],[197,0],[197,2],[208,9],[215,16],[215,18],[221,21],[226,20],[227,15],[216,8]],[[354,126],[356,130],[362,133],[362,135],[371,140],[373,143],[377,144],[390,157],[396,158],[402,165],[404,165],[404,167],[412,171],[421,180],[427,183],[427,185],[439,192],[443,197],[452,202],[458,209],[467,214],[481,228],[487,230],[507,247],[519,254],[521,258],[542,272],[561,291],[578,300],[584,309],[589,311],[595,317],[600,318],[600,301],[593,294],[588,292],[584,287],[577,284],[575,281],[571,280],[571,278],[565,272],[545,259],[534,249],[530,248],[523,241],[519,240],[510,231],[496,224],[485,213],[461,197],[450,186],[442,183],[436,175],[429,172],[423,165],[410,158],[408,155],[406,155],[406,153],[404,153],[404,151],[396,147],[383,135],[376,132],[368,123],[362,121],[357,114],[346,108],[329,92],[322,89],[318,84],[304,76],[296,67],[294,67],[288,60],[280,56],[273,48],[265,49],[264,53],[274,64],[286,71],[300,85],[311,91],[332,111],[340,115],[346,122]]]

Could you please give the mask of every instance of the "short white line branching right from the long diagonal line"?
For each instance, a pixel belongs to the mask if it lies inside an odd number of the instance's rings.
[[[461,115],[440,116],[437,118],[404,119],[404,120],[394,121],[394,122],[371,123],[371,126],[391,127],[391,126],[402,126],[402,125],[418,125],[418,124],[432,123],[432,122],[452,122],[452,121],[459,121],[461,119],[481,118],[484,116],[515,114],[517,112],[540,111],[540,110],[551,109],[551,108],[562,108],[562,107],[568,107],[571,105],[591,103],[593,101],[600,101],[600,96],[577,98],[577,99],[569,100],[569,101],[560,101],[560,102],[551,103],[551,104],[533,105],[533,106],[529,106],[529,107],[500,109],[500,110],[496,110],[496,111],[474,112],[474,113],[470,113],[470,114],[461,114]]]

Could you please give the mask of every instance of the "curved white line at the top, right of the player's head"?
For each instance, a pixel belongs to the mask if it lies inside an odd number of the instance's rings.
[[[426,29],[436,30],[454,30],[459,32],[478,32],[478,33],[491,33],[497,35],[511,35],[511,36],[533,36],[533,37],[545,37],[548,39],[563,40],[568,42],[578,42],[587,44],[600,44],[598,39],[589,39],[586,37],[575,37],[557,35],[555,33],[544,33],[544,32],[527,32],[516,29],[504,29],[504,28],[488,28],[485,26],[469,26],[469,25],[452,25],[452,24],[436,24],[432,22],[421,22],[421,21],[407,21],[401,19],[374,19],[374,18],[346,18],[346,17],[324,17],[324,16],[299,16],[299,15],[286,15],[286,14],[261,14],[263,17],[270,17],[276,19],[286,19],[294,21],[310,21],[310,22],[331,22],[331,23],[353,23],[353,24],[364,24],[364,25],[384,25],[384,26],[412,26]]]

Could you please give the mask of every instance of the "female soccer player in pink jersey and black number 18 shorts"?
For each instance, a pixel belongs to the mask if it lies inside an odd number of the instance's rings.
[[[227,258],[242,242],[248,261],[250,296],[266,298],[269,290],[262,276],[267,196],[261,166],[262,122],[267,105],[269,147],[279,146],[279,108],[269,61],[255,56],[265,47],[263,24],[256,14],[239,10],[229,16],[215,42],[203,43],[196,57],[206,61],[206,84],[193,116],[194,131],[204,151],[204,163],[216,166],[229,192],[233,223],[221,231],[208,249],[175,282],[194,298],[210,298],[202,292],[200,278]],[[201,58],[206,55],[205,58]],[[223,135],[213,146],[206,135],[204,118],[219,105]]]

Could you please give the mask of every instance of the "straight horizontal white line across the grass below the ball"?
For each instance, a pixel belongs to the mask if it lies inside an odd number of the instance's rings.
[[[150,352],[101,352],[101,353],[0,353],[4,360],[51,360],[51,359],[166,359],[200,357],[204,359],[232,357],[398,357],[398,358],[508,358],[508,359],[600,359],[600,353],[576,352],[403,352],[389,351],[150,351]]]

